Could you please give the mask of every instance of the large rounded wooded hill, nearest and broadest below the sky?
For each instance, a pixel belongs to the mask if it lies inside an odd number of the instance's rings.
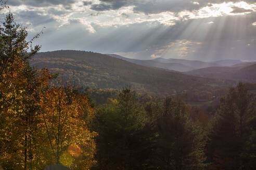
[[[75,86],[101,89],[121,89],[130,86],[138,92],[147,92],[151,95],[170,95],[183,90],[213,90],[234,83],[168,72],[86,51],[41,52],[30,62],[38,68],[46,66],[54,72],[63,70],[60,79]]]

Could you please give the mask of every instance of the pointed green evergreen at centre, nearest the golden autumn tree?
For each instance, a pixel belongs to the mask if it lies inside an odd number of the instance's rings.
[[[117,100],[109,99],[94,122],[99,133],[98,169],[142,169],[148,154],[147,121],[144,108],[135,102],[130,89],[123,89]]]

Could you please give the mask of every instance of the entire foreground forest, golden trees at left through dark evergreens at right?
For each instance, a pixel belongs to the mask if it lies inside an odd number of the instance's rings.
[[[185,94],[95,92],[31,66],[39,36],[27,40],[11,13],[0,29],[3,169],[255,169],[256,96],[248,84],[230,86],[208,112]]]

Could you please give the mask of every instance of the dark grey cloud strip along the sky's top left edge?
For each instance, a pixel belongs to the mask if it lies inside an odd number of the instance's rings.
[[[28,5],[34,7],[63,5],[69,7],[75,0],[8,0],[7,4],[10,6]]]

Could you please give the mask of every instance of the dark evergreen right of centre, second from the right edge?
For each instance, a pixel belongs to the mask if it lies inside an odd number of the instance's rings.
[[[203,131],[185,110],[185,104],[179,98],[165,98],[157,120],[159,136],[156,159],[160,169],[204,167]]]

